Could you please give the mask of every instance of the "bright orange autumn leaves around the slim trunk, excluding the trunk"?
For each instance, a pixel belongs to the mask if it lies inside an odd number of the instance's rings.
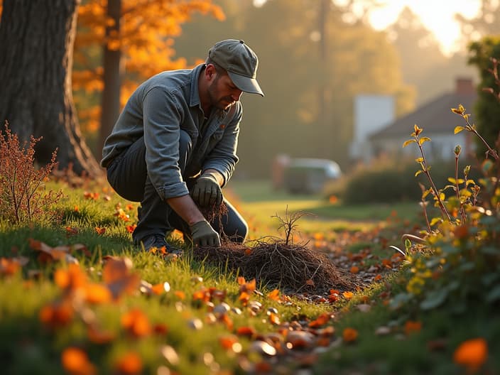
[[[83,89],[86,97],[104,88],[104,67],[99,56],[103,48],[119,50],[124,75],[121,77],[121,104],[126,102],[139,82],[163,70],[187,66],[184,58],[175,58],[173,37],[192,13],[210,14],[224,19],[224,13],[212,0],[121,0],[119,28],[109,16],[107,0],[85,1],[78,10],[75,40],[73,87]],[[118,30],[117,30],[118,29]],[[75,97],[79,100],[79,96]],[[80,97],[80,101],[83,98]],[[99,105],[88,103],[80,111],[82,125],[88,130],[99,128]]]

